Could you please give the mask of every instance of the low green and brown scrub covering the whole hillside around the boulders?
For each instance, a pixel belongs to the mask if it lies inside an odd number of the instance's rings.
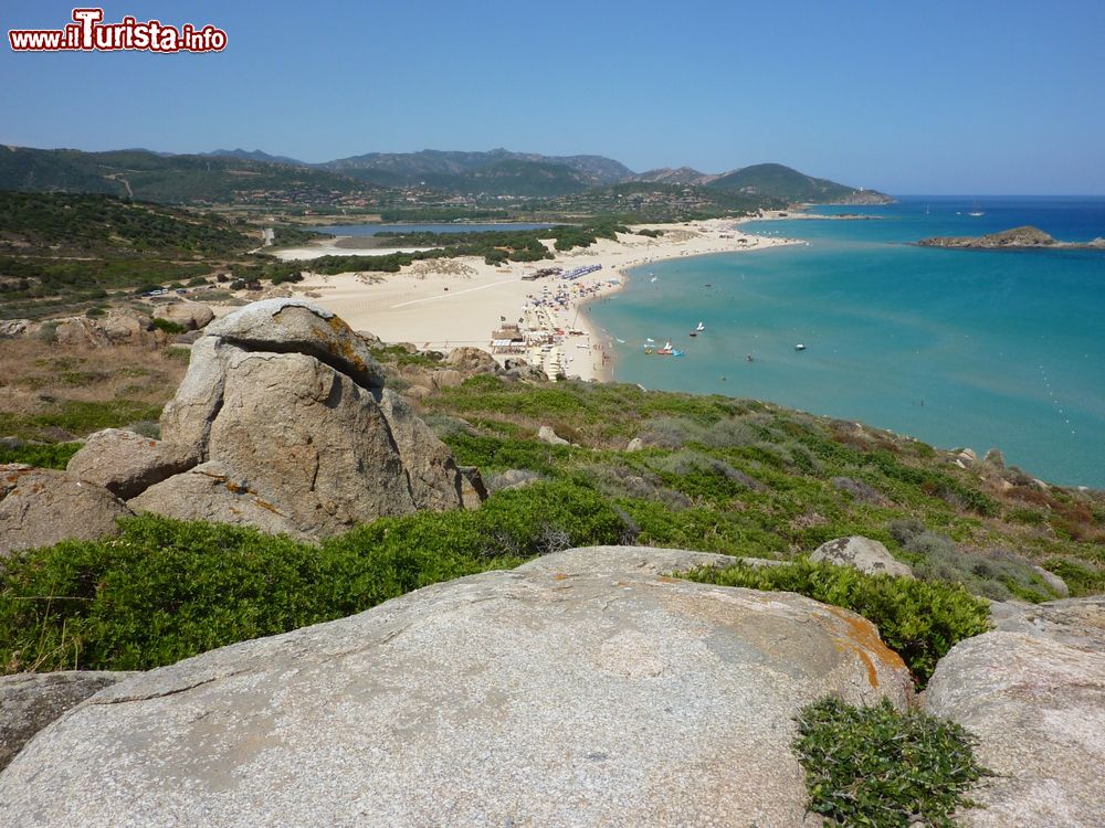
[[[7,444],[13,461],[60,467],[72,446],[53,444],[108,426],[156,435],[157,413],[185,370],[168,351],[9,344],[0,436],[24,442]],[[397,346],[376,355],[400,386],[403,371],[441,362]],[[1075,595],[1103,591],[1099,492],[1030,488],[1023,473],[981,463],[962,469],[888,433],[749,400],[492,375],[420,405],[457,461],[481,468],[493,491],[483,509],[381,520],[320,548],[141,518],[119,540],[28,553],[0,576],[0,604],[11,607],[3,659],[38,669],[164,664],[565,545],[630,542],[790,561],[701,576],[851,608],[924,683],[955,641],[986,628],[985,605],[970,593],[1055,597],[1032,564],[1065,577]],[[573,445],[538,440],[540,425]],[[633,437],[640,450],[627,450]],[[850,534],[882,541],[918,580],[802,560]],[[143,602],[164,618],[143,615]],[[178,638],[172,617],[193,619],[181,622]]]

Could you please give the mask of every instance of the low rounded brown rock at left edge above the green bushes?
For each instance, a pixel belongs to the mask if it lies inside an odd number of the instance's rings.
[[[102,486],[67,471],[0,466],[0,558],[60,541],[117,534],[126,505]]]

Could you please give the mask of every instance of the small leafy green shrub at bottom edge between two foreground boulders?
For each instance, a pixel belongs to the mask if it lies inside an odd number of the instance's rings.
[[[989,771],[978,740],[955,722],[888,700],[853,708],[825,698],[802,709],[791,745],[806,771],[807,808],[838,826],[951,828],[967,792]]]

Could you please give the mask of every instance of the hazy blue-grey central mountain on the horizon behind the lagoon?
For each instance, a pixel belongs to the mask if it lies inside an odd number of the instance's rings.
[[[369,152],[319,166],[381,187],[425,185],[493,195],[562,195],[633,176],[624,164],[602,156],[543,156],[505,149]]]

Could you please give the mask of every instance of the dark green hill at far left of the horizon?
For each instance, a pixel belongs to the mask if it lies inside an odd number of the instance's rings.
[[[326,170],[244,158],[0,147],[0,190],[98,192],[171,204],[304,203],[366,189],[361,181]]]

